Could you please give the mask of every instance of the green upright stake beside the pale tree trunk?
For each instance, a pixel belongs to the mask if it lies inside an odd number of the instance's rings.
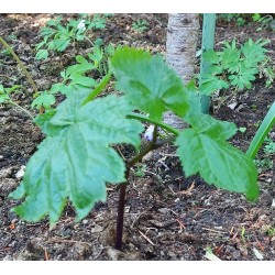
[[[215,42],[216,13],[204,13],[202,42],[201,42],[201,59],[200,59],[200,81],[201,75],[209,70],[209,63],[205,61],[202,53],[213,48]],[[200,95],[201,112],[209,113],[210,97]]]

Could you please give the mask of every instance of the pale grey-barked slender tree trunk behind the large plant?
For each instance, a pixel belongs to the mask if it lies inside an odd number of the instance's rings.
[[[187,84],[194,76],[195,57],[199,33],[199,14],[169,14],[166,38],[166,59],[183,82]],[[173,112],[164,113],[164,122],[177,129],[184,123]]]

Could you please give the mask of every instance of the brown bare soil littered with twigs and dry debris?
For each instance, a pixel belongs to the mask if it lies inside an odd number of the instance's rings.
[[[40,28],[50,18],[51,14],[0,15],[0,35],[13,46],[40,90],[56,82],[59,72],[73,61],[69,53],[53,56],[43,64],[33,58]],[[148,20],[148,30],[134,31],[131,25],[138,19]],[[120,14],[108,20],[106,30],[95,32],[90,38],[100,36],[107,44],[129,44],[164,54],[166,25],[167,14]],[[221,22],[217,26],[217,45],[232,38],[241,42],[248,37],[270,38],[268,54],[274,58],[274,32],[256,32],[256,28]],[[22,85],[24,92],[18,95],[16,102],[29,108],[32,88],[18,64],[3,52],[0,64],[0,82],[6,87]],[[274,100],[274,89],[265,88],[264,81],[257,79],[250,91],[216,108],[213,116],[248,129],[232,140],[245,151],[267,106]],[[238,102],[239,108],[227,107],[232,102]],[[215,105],[217,107],[218,102]],[[29,223],[9,212],[14,201],[7,196],[20,183],[16,173],[35,151],[42,134],[28,116],[10,106],[0,105],[0,125],[1,260],[206,260],[207,251],[221,260],[257,260],[261,256],[275,260],[272,168],[260,173],[261,197],[257,202],[250,204],[242,195],[218,190],[199,177],[185,179],[173,147],[154,152],[144,162],[143,174],[131,175],[123,249],[119,252],[113,249],[119,198],[113,187],[109,189],[108,201],[99,204],[79,223],[74,223],[75,212],[68,206],[51,231],[47,220]]]

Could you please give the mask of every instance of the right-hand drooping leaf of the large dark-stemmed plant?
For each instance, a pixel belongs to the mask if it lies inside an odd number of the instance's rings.
[[[188,177],[199,173],[209,184],[243,193],[250,200],[256,199],[258,187],[254,163],[226,142],[234,133],[234,127],[229,122],[215,123],[213,118],[202,114],[199,123],[197,120],[189,122],[195,127],[180,132],[176,140],[185,175]]]

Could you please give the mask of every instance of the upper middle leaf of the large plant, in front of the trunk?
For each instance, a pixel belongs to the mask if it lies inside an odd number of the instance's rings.
[[[123,47],[112,56],[111,72],[117,88],[141,111],[150,113],[152,120],[161,121],[164,111],[174,111],[179,117],[187,112],[189,94],[160,55]]]

